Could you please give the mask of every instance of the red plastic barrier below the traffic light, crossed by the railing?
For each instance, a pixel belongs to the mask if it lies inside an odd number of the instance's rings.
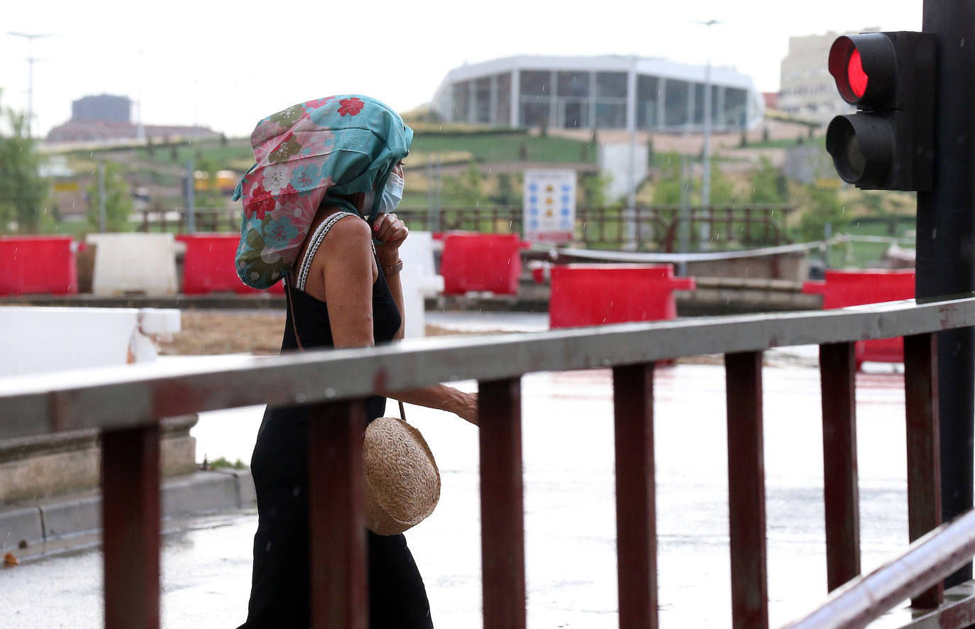
[[[866,303],[911,299],[915,295],[914,269],[827,271],[825,281],[806,282],[802,292],[823,295],[823,308],[845,308]],[[856,362],[903,363],[904,338],[876,338],[856,344]]]

